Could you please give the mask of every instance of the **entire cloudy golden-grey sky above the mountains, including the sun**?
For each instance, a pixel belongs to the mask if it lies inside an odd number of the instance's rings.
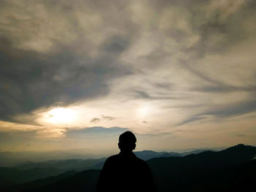
[[[0,150],[256,145],[256,1],[0,0]]]

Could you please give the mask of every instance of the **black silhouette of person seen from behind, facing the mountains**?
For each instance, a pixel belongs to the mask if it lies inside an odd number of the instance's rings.
[[[118,147],[121,152],[110,156],[105,161],[99,175],[98,192],[155,191],[148,164],[132,153],[132,150],[135,150],[136,141],[131,131],[126,131],[119,136]]]

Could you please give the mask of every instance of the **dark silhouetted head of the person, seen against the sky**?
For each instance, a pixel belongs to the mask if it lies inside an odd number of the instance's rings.
[[[119,136],[118,147],[122,152],[132,152],[135,150],[137,139],[131,131],[126,131]]]

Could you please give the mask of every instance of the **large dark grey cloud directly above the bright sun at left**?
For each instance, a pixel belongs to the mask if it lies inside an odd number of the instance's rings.
[[[90,58],[63,47],[61,52],[45,55],[15,49],[7,39],[1,39],[0,46],[1,120],[39,107],[105,96],[108,80],[130,73],[105,54]]]

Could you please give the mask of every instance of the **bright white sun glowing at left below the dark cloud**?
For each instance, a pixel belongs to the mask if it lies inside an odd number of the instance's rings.
[[[50,110],[47,115],[49,123],[72,123],[76,118],[74,110],[67,108],[57,107]]]

